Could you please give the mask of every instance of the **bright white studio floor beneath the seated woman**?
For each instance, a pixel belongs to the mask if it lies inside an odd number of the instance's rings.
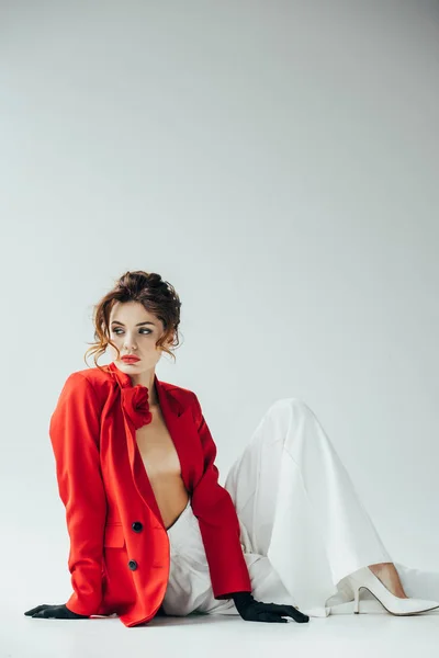
[[[4,606],[4,602],[2,603]],[[245,622],[239,616],[156,617],[126,628],[119,619],[0,616],[0,658],[190,658],[213,656],[363,656],[429,658],[439,650],[439,612],[396,617],[385,611],[312,617],[307,624]]]

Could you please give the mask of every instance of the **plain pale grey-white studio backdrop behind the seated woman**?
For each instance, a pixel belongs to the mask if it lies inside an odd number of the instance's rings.
[[[302,398],[394,559],[439,570],[437,3],[1,7],[2,604],[70,594],[48,420],[134,269],[181,297],[157,375],[222,483]]]

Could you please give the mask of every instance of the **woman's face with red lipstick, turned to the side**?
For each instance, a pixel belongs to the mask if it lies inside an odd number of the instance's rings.
[[[116,350],[109,345],[111,359],[130,375],[154,368],[161,356],[156,342],[162,331],[161,320],[148,313],[139,302],[116,302],[110,314],[110,337],[121,355],[117,359]],[[122,356],[128,354],[135,354],[139,361],[122,361]]]

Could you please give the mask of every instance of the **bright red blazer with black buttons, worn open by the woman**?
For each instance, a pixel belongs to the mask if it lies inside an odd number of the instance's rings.
[[[125,626],[153,619],[169,578],[169,537],[136,443],[151,420],[148,388],[133,386],[114,363],[69,375],[50,417],[59,496],[70,537],[74,593],[67,606],[85,615],[116,613]],[[251,591],[239,521],[218,484],[216,446],[198,397],[155,386],[192,496],[215,599]]]

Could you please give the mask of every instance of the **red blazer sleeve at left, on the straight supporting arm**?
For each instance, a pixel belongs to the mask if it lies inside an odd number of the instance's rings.
[[[68,568],[72,612],[97,614],[102,600],[103,536],[106,496],[99,452],[100,409],[90,382],[72,373],[49,421],[59,496],[70,536]]]

